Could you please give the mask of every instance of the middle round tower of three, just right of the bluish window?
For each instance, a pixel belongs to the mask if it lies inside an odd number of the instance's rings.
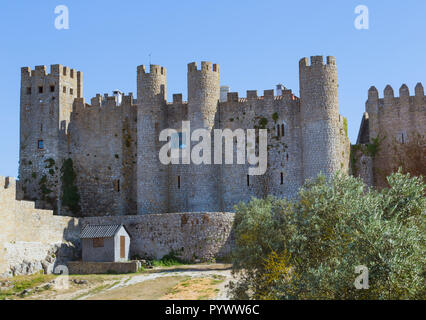
[[[203,61],[198,70],[195,62],[188,64],[188,120],[191,134],[196,129],[212,131],[219,99],[219,65]],[[191,150],[198,143],[190,142],[189,137],[186,141],[188,145],[191,143]],[[212,162],[213,154],[210,159]],[[219,203],[218,170],[214,164],[191,163],[185,181],[182,181],[187,190],[190,211],[208,211],[212,204]]]

